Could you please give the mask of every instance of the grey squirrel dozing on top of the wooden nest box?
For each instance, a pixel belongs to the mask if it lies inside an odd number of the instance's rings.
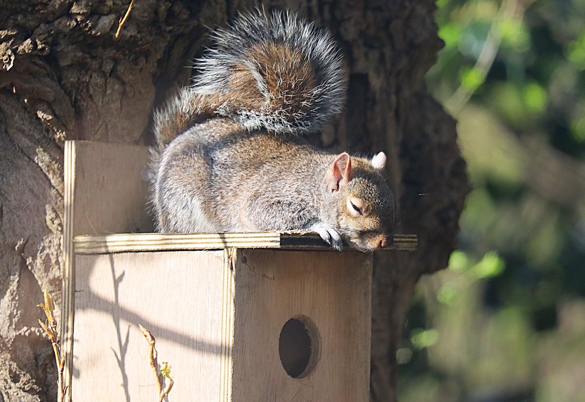
[[[152,206],[162,233],[316,231],[333,248],[393,240],[394,196],[371,160],[300,134],[342,108],[329,33],[290,12],[240,14],[218,29],[191,86],[154,117]]]

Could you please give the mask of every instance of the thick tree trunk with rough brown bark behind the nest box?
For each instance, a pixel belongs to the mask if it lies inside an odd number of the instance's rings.
[[[60,303],[63,141],[149,143],[156,107],[184,85],[208,29],[250,1],[0,0],[0,400],[49,401],[56,368],[42,289]],[[329,27],[345,56],[344,115],[325,147],[385,150],[398,231],[416,255],[377,256],[371,400],[394,401],[394,352],[418,278],[446,265],[468,190],[455,123],[425,91],[441,41],[433,0],[264,2]],[[428,194],[421,196],[420,194]],[[392,268],[388,268],[392,267]]]

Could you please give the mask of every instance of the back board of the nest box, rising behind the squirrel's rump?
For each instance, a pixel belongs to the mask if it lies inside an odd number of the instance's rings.
[[[145,207],[148,183],[141,179],[149,160],[149,150],[144,146],[91,141],[65,143],[61,335],[67,362],[66,384],[71,379],[73,348],[73,237],[152,231],[152,219]]]

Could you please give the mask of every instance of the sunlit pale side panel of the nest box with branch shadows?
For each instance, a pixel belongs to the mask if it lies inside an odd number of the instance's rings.
[[[234,292],[224,255],[78,255],[73,400],[158,400],[142,324],[172,367],[170,400],[230,402]]]

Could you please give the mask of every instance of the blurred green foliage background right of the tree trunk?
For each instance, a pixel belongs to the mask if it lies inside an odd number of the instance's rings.
[[[423,278],[401,402],[585,401],[585,0],[438,0],[428,87],[473,191]]]

